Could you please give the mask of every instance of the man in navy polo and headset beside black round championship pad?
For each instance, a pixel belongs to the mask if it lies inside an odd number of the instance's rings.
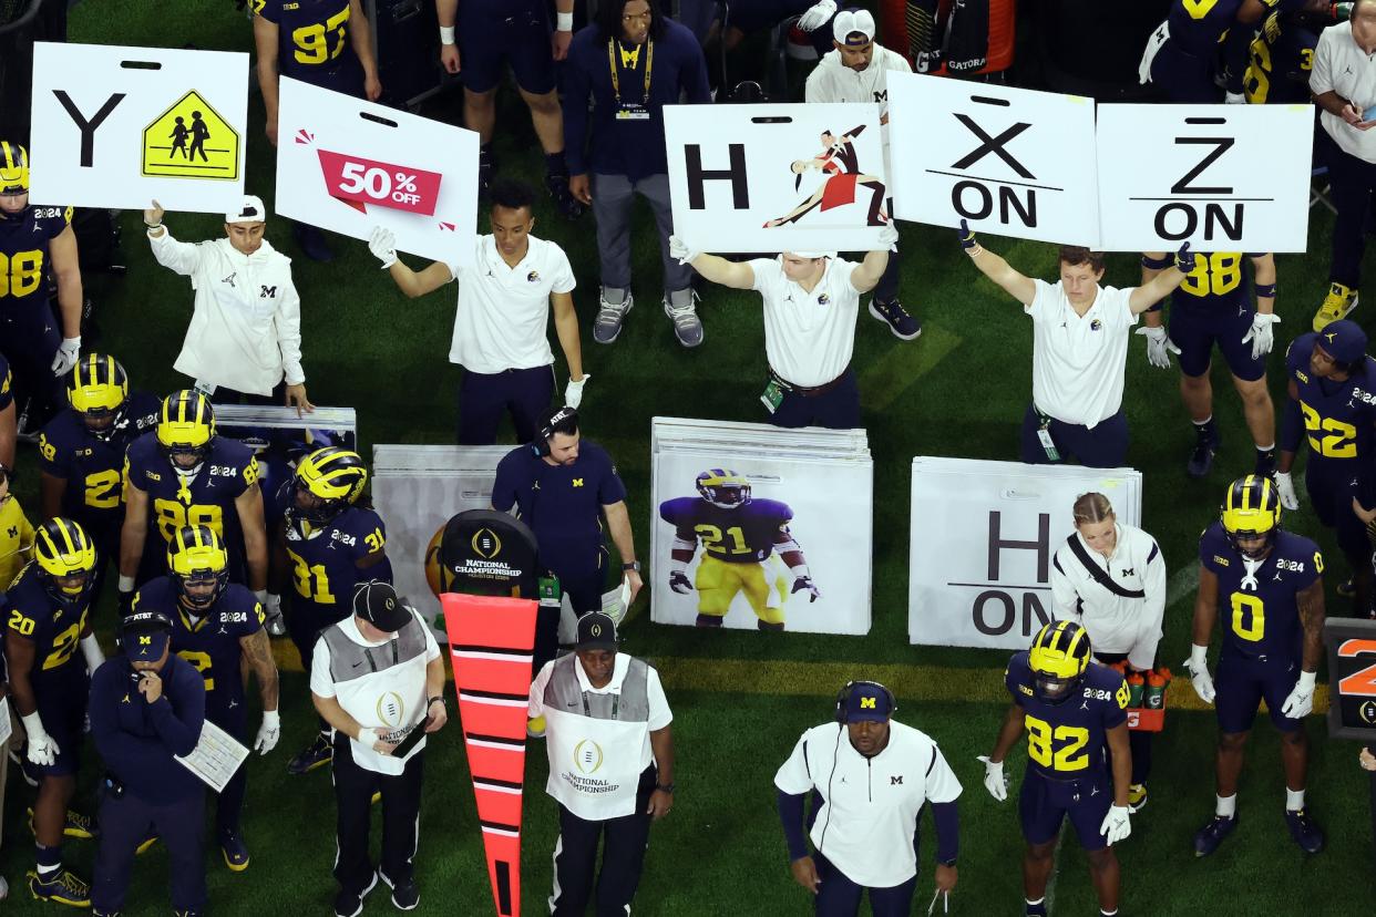
[[[497,465],[493,509],[506,513],[512,507],[535,532],[539,564],[555,580],[556,594],[568,595],[579,617],[603,606],[605,513],[630,602],[636,601],[641,580],[626,511],[626,485],[607,450],[582,439],[574,408],[561,407],[546,415],[534,441],[516,447]],[[546,615],[542,608],[535,626],[534,671],[555,659],[557,643],[557,610]]]

